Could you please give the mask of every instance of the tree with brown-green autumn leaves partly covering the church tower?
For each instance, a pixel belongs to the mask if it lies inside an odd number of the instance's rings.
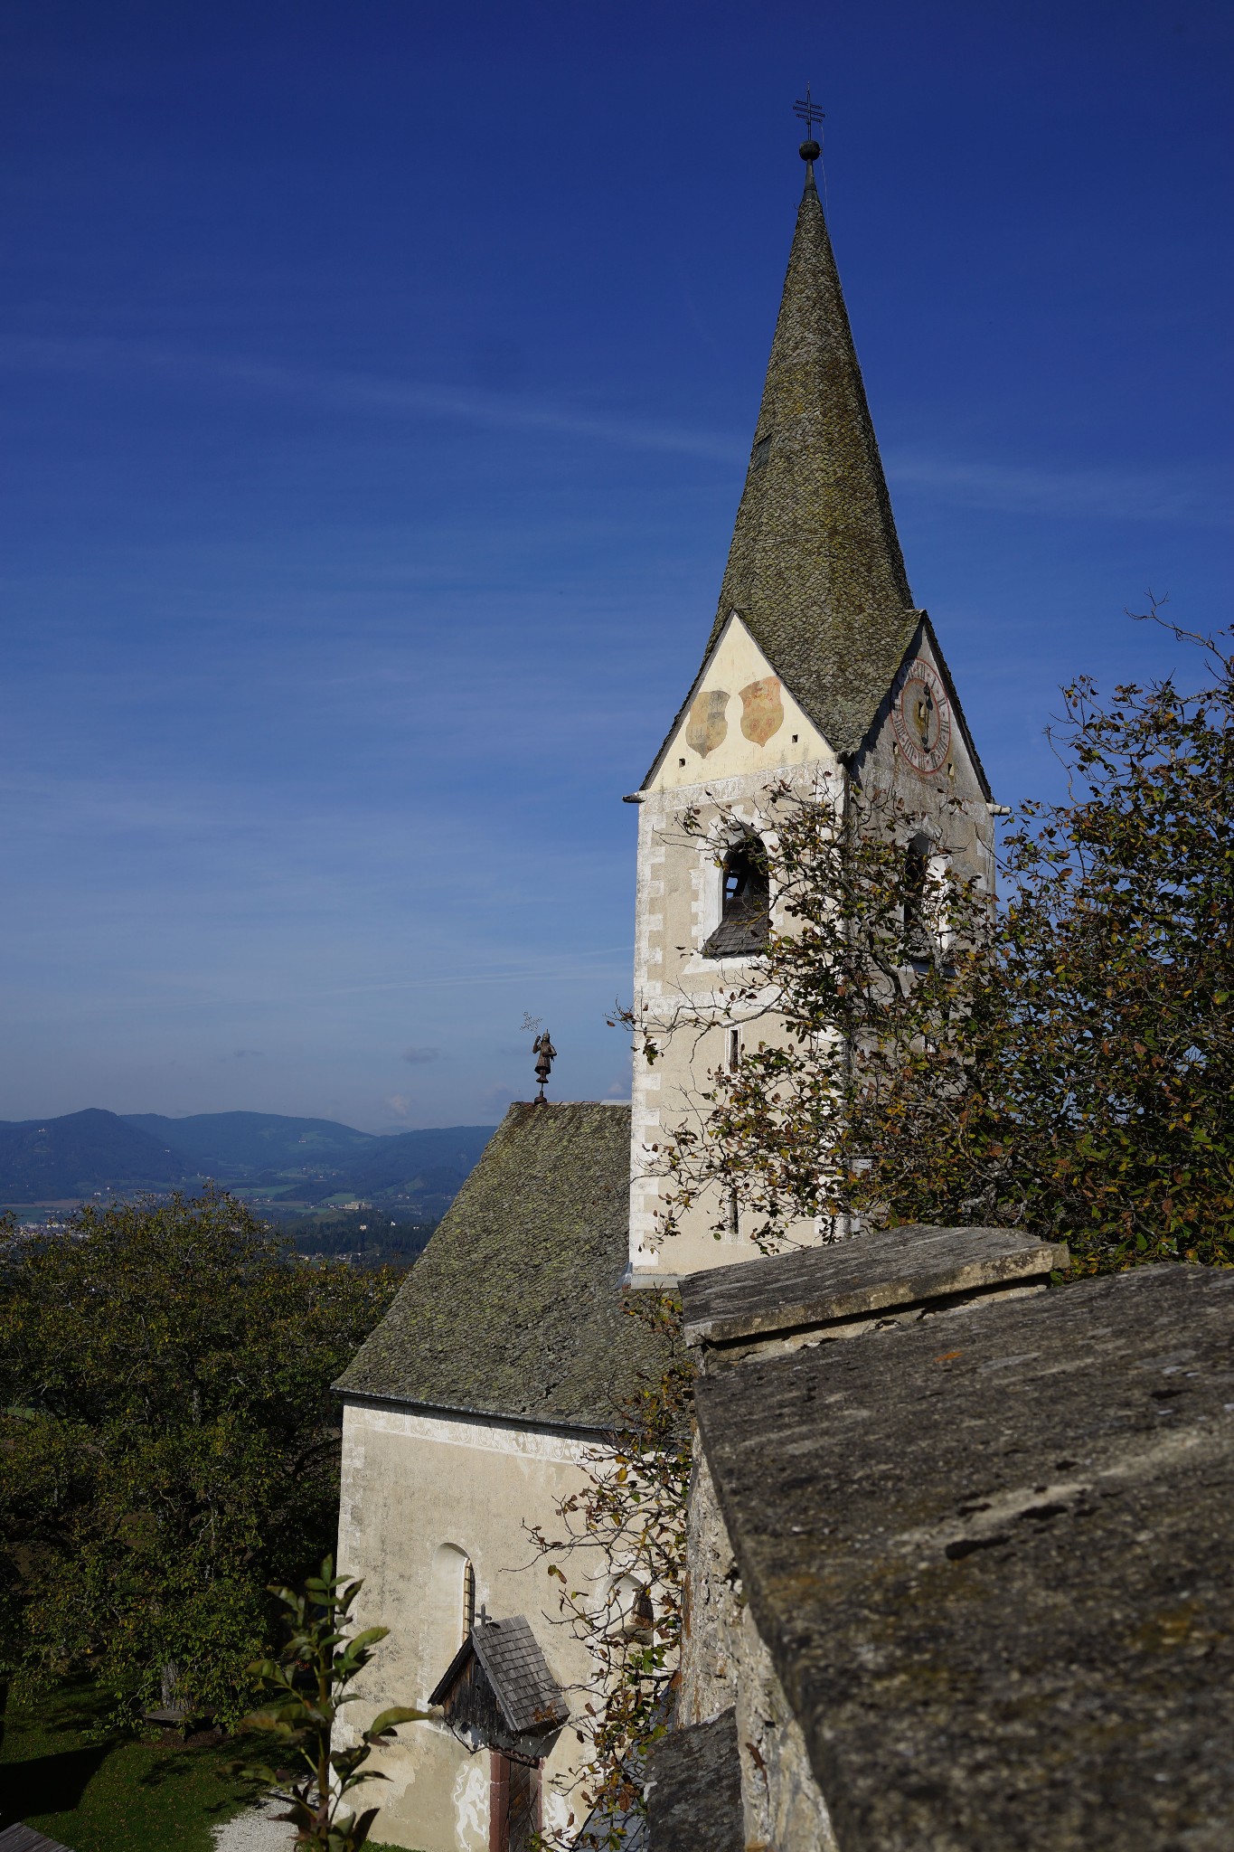
[[[672,1020],[753,1032],[660,1145],[664,1239],[720,1185],[768,1248],[801,1219],[992,1222],[1080,1272],[1234,1263],[1234,633],[1175,635],[1195,693],[1064,689],[1069,795],[1019,811],[997,900],[947,857],[945,809],[923,859],[888,791],[768,793],[783,926]],[[662,1030],[631,1026],[655,1059]]]

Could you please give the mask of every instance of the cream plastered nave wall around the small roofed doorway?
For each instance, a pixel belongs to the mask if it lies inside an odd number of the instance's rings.
[[[346,1404],[339,1567],[364,1580],[359,1624],[390,1628],[359,1687],[364,1702],[353,1706],[352,1728],[389,1704],[427,1704],[461,1645],[464,1559],[475,1574],[475,1611],[483,1604],[498,1620],[525,1615],[572,1709],[581,1708],[570,1687],[588,1678],[588,1656],[555,1624],[555,1583],[525,1526],[561,1533],[557,1506],[581,1487],[588,1446],[548,1428]],[[570,1567],[577,1574],[583,1565]],[[542,1771],[546,1826],[564,1826],[559,1783],[577,1754],[566,1726]],[[444,1724],[416,1722],[376,1767],[389,1776],[368,1796],[381,1806],[376,1839],[418,1852],[488,1852],[487,1750],[470,1754]]]

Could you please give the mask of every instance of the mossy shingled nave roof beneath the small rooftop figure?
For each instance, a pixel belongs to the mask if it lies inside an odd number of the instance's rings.
[[[627,1241],[629,1106],[511,1106],[339,1389],[611,1428],[660,1367]]]

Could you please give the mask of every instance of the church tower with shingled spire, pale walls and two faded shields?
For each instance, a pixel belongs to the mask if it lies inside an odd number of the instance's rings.
[[[877,774],[947,848],[992,880],[992,806],[934,628],[914,607],[866,404],[840,276],[814,185],[818,143],[801,144],[805,191],[703,661],[664,745],[629,798],[638,809],[635,1007],[660,1026],[655,1063],[635,1054],[631,1269],[635,1285],[751,1259],[734,1206],[697,1204],[657,1239],[653,1146],[686,1119],[707,1074],[740,1059],[742,1022],[670,1033],[685,998],[718,998],[749,970],[749,883],[740,841],[720,841],[720,807],[760,833],[760,798],[784,778],[831,789]],[[686,841],[681,813],[712,837]],[[934,822],[931,820],[934,819]],[[764,915],[766,917],[766,915]],[[771,896],[771,924],[775,924]],[[749,1030],[753,1033],[753,1026]],[[764,1022],[759,1033],[766,1035]],[[712,1228],[727,1220],[716,1241]],[[803,1226],[799,1239],[818,1239]]]

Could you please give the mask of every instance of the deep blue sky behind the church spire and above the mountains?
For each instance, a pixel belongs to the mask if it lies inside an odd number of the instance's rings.
[[[0,17],[0,1117],[627,1089],[801,187],[1005,802],[1228,622],[1227,0]]]

